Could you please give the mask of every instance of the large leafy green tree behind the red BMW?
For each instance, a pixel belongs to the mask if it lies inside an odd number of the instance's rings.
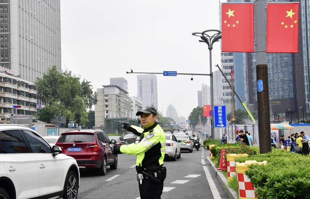
[[[87,121],[86,109],[97,104],[97,93],[92,92],[90,83],[85,79],[80,82],[80,76],[69,70],[59,73],[56,66],[35,82],[38,99],[48,104],[54,114],[64,116],[66,128],[70,120],[84,124]]]

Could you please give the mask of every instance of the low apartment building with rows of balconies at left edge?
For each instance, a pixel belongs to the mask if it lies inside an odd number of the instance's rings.
[[[37,87],[20,79],[16,71],[0,67],[0,117],[15,115],[13,106],[21,106],[17,108],[17,115],[36,116]]]

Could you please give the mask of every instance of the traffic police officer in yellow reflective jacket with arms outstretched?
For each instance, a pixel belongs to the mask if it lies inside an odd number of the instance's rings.
[[[134,133],[139,139],[138,144],[114,145],[111,150],[113,155],[125,153],[138,156],[136,161],[137,180],[141,199],[160,199],[166,178],[166,168],[163,167],[166,137],[157,124],[157,111],[151,106],[144,107],[136,113],[140,115],[141,124],[145,129],[123,123],[123,128]]]

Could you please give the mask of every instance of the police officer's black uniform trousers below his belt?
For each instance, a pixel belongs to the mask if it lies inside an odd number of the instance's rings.
[[[161,199],[164,182],[156,183],[149,179],[142,179],[142,184],[139,183],[139,191],[141,199]]]

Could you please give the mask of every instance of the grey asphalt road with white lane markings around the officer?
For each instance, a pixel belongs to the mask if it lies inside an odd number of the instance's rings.
[[[209,151],[182,152],[177,161],[165,159],[167,177],[164,181],[162,199],[168,198],[214,198],[228,199],[223,186],[210,166],[206,164]],[[135,171],[136,156],[119,154],[117,170],[108,166],[105,176],[92,170],[81,169],[79,199],[139,199],[139,187]]]

